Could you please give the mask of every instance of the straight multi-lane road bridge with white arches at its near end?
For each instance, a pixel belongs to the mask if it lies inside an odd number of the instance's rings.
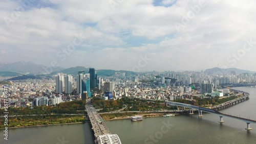
[[[92,124],[96,144],[121,144],[117,134],[112,134],[95,108],[87,101],[86,110]]]

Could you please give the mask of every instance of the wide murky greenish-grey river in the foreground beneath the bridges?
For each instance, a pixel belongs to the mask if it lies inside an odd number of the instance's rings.
[[[256,119],[256,88],[235,88],[250,93],[249,100],[221,110],[220,112]],[[132,122],[130,119],[106,121],[112,133],[118,134],[123,144],[128,143],[256,143],[256,124],[223,117],[220,124],[217,114],[203,113],[175,117],[143,118]],[[3,133],[3,132],[2,132]],[[9,140],[1,136],[0,143],[93,143],[89,123],[9,129]]]

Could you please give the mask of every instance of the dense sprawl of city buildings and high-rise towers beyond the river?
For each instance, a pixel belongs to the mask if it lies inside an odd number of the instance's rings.
[[[3,79],[3,78],[2,78]],[[116,100],[122,97],[154,100],[192,100],[193,97],[223,97],[230,94],[221,84],[253,83],[252,74],[205,74],[204,71],[165,71],[139,73],[137,76],[116,73],[97,77],[97,71],[78,71],[77,75],[57,74],[52,79],[11,81],[8,85],[10,107],[56,105],[61,102],[98,97]],[[0,90],[4,104],[3,85]]]

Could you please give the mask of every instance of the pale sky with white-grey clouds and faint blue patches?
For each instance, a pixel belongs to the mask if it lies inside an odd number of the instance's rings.
[[[0,55],[62,67],[256,71],[255,7],[254,0],[2,0]]]

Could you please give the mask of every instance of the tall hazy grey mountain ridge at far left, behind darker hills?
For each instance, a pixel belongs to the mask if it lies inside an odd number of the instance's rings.
[[[52,67],[44,66],[41,64],[35,64],[33,62],[14,62],[14,63],[1,63],[0,64],[0,71],[12,71],[16,73],[23,73],[23,74],[47,74],[47,70],[51,69]],[[63,67],[53,67],[52,71],[60,71],[65,68]]]

